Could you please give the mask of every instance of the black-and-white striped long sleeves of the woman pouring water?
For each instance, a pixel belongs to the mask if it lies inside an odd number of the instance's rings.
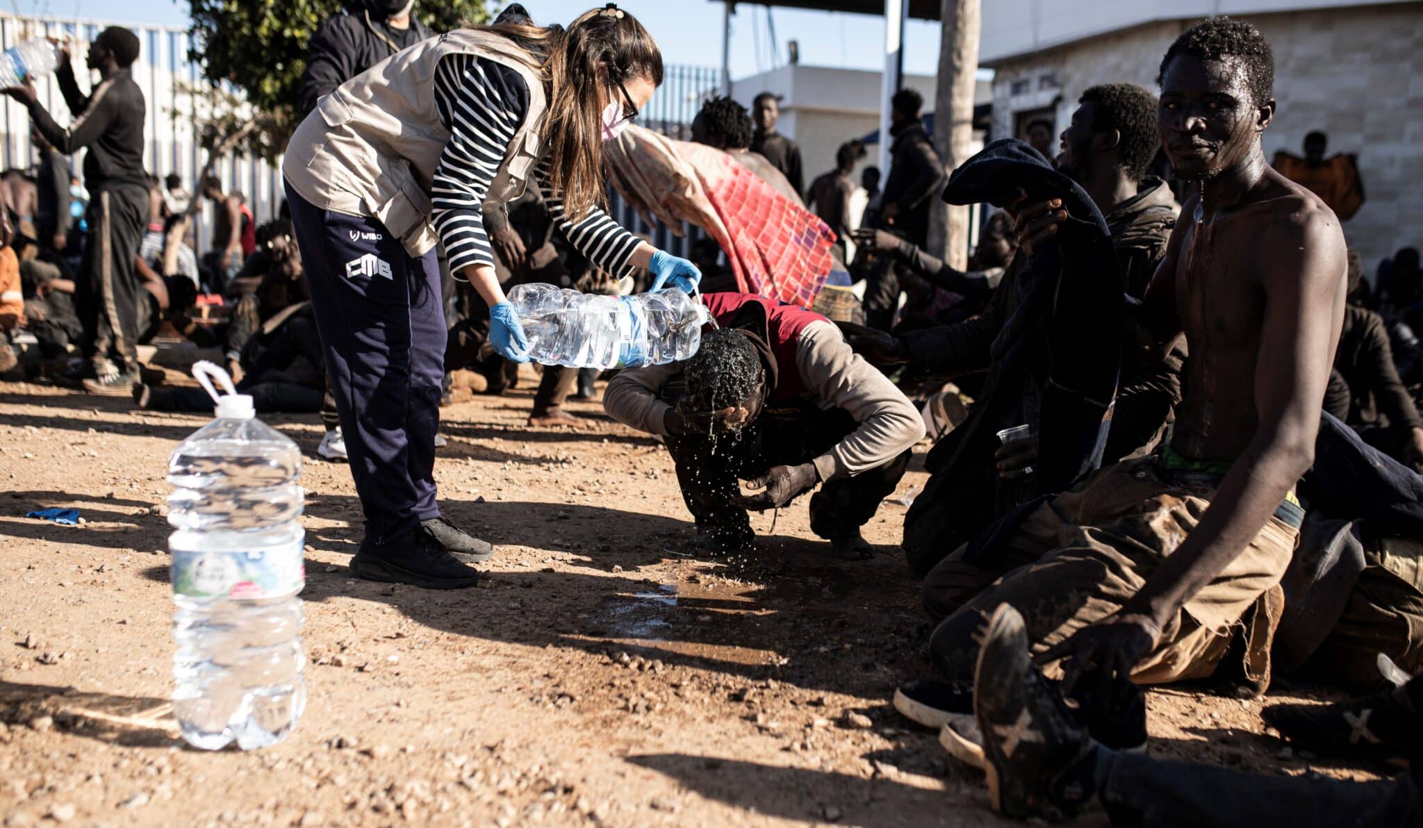
[[[494,265],[484,229],[484,198],[508,152],[509,141],[528,115],[529,91],[514,70],[471,54],[454,54],[435,70],[435,107],[450,129],[435,168],[433,205],[435,230],[455,273],[471,265]],[[529,185],[538,186],[545,206],[568,240],[599,267],[623,276],[640,239],[601,209],[573,223],[564,202],[551,195],[545,158]]]

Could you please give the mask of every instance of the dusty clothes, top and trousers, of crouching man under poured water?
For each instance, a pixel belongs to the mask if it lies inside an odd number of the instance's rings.
[[[904,477],[924,420],[822,316],[750,294],[703,302],[719,326],[764,346],[771,388],[761,415],[734,438],[666,435],[669,404],[682,396],[682,363],[622,371],[608,384],[603,407],[626,425],[666,437],[687,511],[717,541],[739,546],[753,538],[736,504],[737,479],[805,462],[822,484],[810,501],[811,529],[821,538],[855,535]]]

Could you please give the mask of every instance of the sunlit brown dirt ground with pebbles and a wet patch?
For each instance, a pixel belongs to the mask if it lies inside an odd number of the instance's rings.
[[[595,428],[531,430],[532,384],[443,413],[445,514],[501,546],[467,592],[350,579],[349,469],[312,460],[314,415],[268,418],[309,458],[310,701],[256,753],[189,750],[166,708],[164,474],[206,418],[0,384],[4,825],[999,824],[889,704],[926,672],[896,546],[925,447],[867,526],[874,561],[830,559],[803,502],[754,518],[756,555],[696,559],[666,451],[596,403],[573,405]],[[85,522],[24,518],[46,506]],[[1379,770],[1284,748],[1261,706],[1154,691],[1151,753]]]

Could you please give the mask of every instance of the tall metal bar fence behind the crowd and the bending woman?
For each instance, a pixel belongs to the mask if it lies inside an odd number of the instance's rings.
[[[67,36],[90,41],[107,26],[110,23],[102,20],[0,14],[0,48],[44,36]],[[132,73],[148,102],[144,165],[159,178],[178,174],[184,186],[195,191],[206,156],[198,144],[192,98],[182,90],[198,87],[205,81],[198,64],[188,60],[191,46],[188,33],[162,26],[125,26],[142,44],[142,54],[134,64]],[[77,55],[77,60],[81,57]],[[712,67],[667,65],[663,84],[647,102],[639,121],[673,138],[689,138],[692,118],[702,108],[702,101],[717,91],[719,84],[717,70]],[[67,124],[68,107],[54,78],[46,78],[38,87],[40,101],[46,110],[58,124]],[[80,71],[80,88],[87,91],[87,87]],[[30,169],[38,158],[30,142],[28,114],[14,101],[4,98],[0,115],[3,115],[0,139],[3,139],[4,168]],[[71,159],[73,169],[81,169],[83,162],[84,154],[80,151]],[[242,192],[246,196],[259,223],[276,215],[283,198],[280,159],[273,165],[259,158],[229,155],[218,162],[213,174],[222,179],[228,192]],[[616,193],[610,193],[610,208],[613,216],[626,228],[649,235],[659,248],[686,255],[687,239],[677,239],[663,226],[647,226]],[[211,246],[212,216],[211,205],[203,205],[196,215],[194,242],[199,256]]]

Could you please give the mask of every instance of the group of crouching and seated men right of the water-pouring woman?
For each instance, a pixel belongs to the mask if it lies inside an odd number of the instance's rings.
[[[924,434],[875,366],[929,388],[978,374],[905,521],[935,676],[895,706],[983,767],[1007,815],[1063,818],[1096,798],[1131,824],[1241,824],[1281,807],[1255,797],[1268,788],[1308,825],[1423,819],[1407,775],[1262,781],[1121,753],[1146,741],[1138,686],[1258,696],[1284,674],[1397,683],[1276,706],[1286,737],[1331,753],[1417,744],[1417,414],[1379,361],[1383,324],[1350,304],[1339,219],[1264,159],[1272,81],[1255,28],[1201,23],[1165,54],[1160,101],[1087,90],[1056,164],[999,141],[953,171],[945,201],[1006,212],[972,272],[862,236],[922,283],[894,333],[712,294],[719,329],[699,354],[609,384],[609,414],[663,437],[702,546],[744,548],[747,509],[824,484],[813,529],[864,555],[858,528]],[[1163,145],[1200,182],[1180,211],[1146,175]],[[956,296],[935,309],[935,292]],[[959,303],[973,312],[936,317]],[[1402,438],[1395,457],[1360,421],[1370,403]]]

